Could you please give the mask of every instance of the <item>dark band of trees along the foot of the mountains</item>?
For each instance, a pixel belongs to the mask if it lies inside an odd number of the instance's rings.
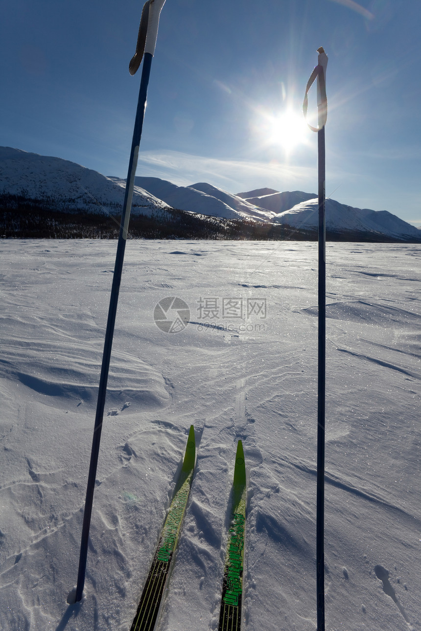
[[[25,196],[0,196],[0,237],[10,239],[117,239],[121,211],[110,215],[85,209],[58,211],[54,201]],[[150,214],[132,213],[129,239],[208,239],[251,241],[315,241],[317,230],[295,228],[251,219],[224,219],[179,209],[157,209]],[[330,241],[388,242],[384,235],[335,233],[326,230]],[[389,240],[393,242],[393,239]]]

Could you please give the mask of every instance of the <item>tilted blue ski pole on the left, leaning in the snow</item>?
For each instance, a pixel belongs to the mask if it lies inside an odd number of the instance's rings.
[[[133,141],[129,159],[129,170],[127,172],[126,192],[121,215],[119,240],[117,243],[116,263],[114,266],[114,276],[110,295],[110,306],[108,312],[107,329],[105,330],[104,353],[102,355],[102,367],[98,390],[97,413],[95,415],[95,425],[93,428],[92,452],[88,473],[88,485],[86,488],[85,511],[83,513],[82,536],[80,543],[80,558],[78,570],[78,583],[76,585],[75,601],[82,598],[83,586],[85,585],[86,557],[88,555],[88,538],[92,514],[93,490],[95,488],[95,478],[97,475],[98,453],[101,439],[101,429],[104,417],[105,395],[107,394],[107,381],[110,368],[110,357],[112,338],[114,336],[114,325],[116,323],[117,302],[121,283],[122,266],[124,261],[124,251],[126,249],[127,230],[133,198],[134,176],[138,163],[139,144],[142,134],[143,118],[145,115],[146,95],[151,69],[155,44],[157,43],[158,23],[161,9],[165,0],[148,0],[143,6],[140,20],[138,43],[136,53],[129,64],[130,74],[136,73],[142,58],[143,68],[140,81],[138,107],[136,119],[134,121]]]

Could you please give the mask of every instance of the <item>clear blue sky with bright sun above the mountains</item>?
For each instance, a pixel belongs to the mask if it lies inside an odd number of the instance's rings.
[[[141,8],[3,0],[0,144],[126,177]],[[167,0],[137,174],[317,192],[301,107],[322,45],[326,194],[421,227],[420,18],[415,0]]]

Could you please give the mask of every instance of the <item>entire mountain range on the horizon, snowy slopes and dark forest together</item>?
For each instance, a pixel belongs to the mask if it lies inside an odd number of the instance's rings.
[[[126,182],[68,160],[0,147],[0,235],[114,239]],[[317,239],[317,199],[302,191],[234,195],[207,182],[177,186],[136,177],[136,239]],[[420,230],[386,211],[326,201],[326,238],[421,242]]]

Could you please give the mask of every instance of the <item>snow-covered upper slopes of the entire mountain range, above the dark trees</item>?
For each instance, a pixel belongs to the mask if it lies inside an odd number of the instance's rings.
[[[0,197],[18,196],[38,207],[73,213],[116,215],[122,208],[126,181],[105,177],[89,168],[62,160],[0,147]],[[134,180],[133,214],[170,218],[177,208],[219,220],[252,220],[286,224],[316,235],[317,199],[314,193],[255,189],[234,195],[206,182],[177,186],[157,177]],[[329,236],[342,240],[420,240],[420,230],[387,211],[352,208],[326,201]],[[308,232],[309,231],[309,232]]]

